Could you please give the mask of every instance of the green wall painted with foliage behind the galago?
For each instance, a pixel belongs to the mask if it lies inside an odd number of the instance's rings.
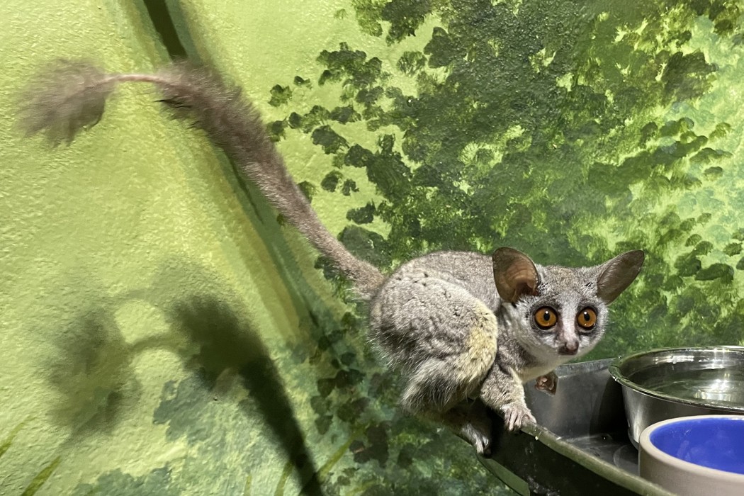
[[[69,147],[22,139],[22,83],[54,57],[214,65],[383,268],[644,248],[594,358],[744,340],[736,1],[166,3],[176,44],[158,2],[0,6],[2,494],[507,492],[397,411],[343,288],[147,88]]]

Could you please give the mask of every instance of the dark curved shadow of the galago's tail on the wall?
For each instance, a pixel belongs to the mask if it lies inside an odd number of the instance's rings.
[[[304,494],[321,494],[318,469],[292,413],[286,387],[260,336],[244,315],[234,312],[233,308],[240,307],[231,308],[225,291],[214,288],[218,277],[195,265],[186,269],[183,264],[170,263],[167,267],[150,289],[99,300],[76,318],[76,323],[62,332],[50,332],[57,353],[45,364],[44,374],[58,393],[51,413],[54,422],[71,428],[68,442],[93,433],[111,433],[142,396],[132,366],[135,358],[147,350],[169,350],[196,371],[199,387],[208,396],[219,388],[218,379],[237,374],[251,398],[250,402],[239,403],[240,410],[246,417],[260,415],[285,459],[295,468]],[[173,267],[178,270],[170,269]],[[190,286],[204,288],[203,294],[176,296],[176,291],[186,285],[174,279],[186,274]],[[194,279],[202,284],[194,284]],[[94,278],[86,277],[86,281],[91,280]],[[165,318],[174,330],[128,343],[115,312],[132,300],[145,300],[165,309]],[[198,347],[196,352],[194,345]],[[158,419],[155,422],[161,423]]]

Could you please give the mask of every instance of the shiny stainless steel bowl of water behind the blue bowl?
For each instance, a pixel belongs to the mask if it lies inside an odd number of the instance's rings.
[[[679,416],[744,415],[744,347],[664,348],[618,358],[609,373],[623,387],[628,435]]]

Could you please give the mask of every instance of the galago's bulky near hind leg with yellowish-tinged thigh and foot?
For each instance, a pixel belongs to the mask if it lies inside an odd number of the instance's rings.
[[[496,357],[496,316],[461,286],[423,271],[397,274],[373,301],[374,341],[407,376],[401,404],[487,454],[491,422],[477,397]]]

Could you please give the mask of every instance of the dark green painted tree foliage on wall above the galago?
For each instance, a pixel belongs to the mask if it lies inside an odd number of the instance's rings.
[[[744,338],[736,2],[354,4],[362,29],[391,45],[441,19],[395,65],[342,43],[319,54],[322,74],[272,90],[291,109],[293,86],[341,87],[338,106],[273,129],[333,155],[312,187],[339,202],[356,187],[345,171],[365,168],[382,199],[347,213],[341,239],[356,253],[394,267],[512,245],[591,265],[641,247],[641,284],[595,355]],[[401,75],[415,91],[395,85]],[[357,142],[357,122],[373,146]],[[386,236],[365,229],[374,219]]]

